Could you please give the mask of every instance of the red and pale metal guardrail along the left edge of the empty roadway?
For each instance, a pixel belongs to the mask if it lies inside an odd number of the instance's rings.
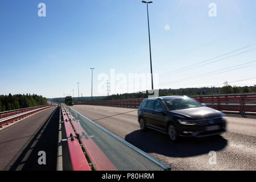
[[[40,110],[44,110],[47,109],[48,107],[51,107],[51,105],[47,105],[47,106],[42,106],[33,110],[28,110],[19,114],[15,114],[15,115],[11,115],[9,117],[5,117],[0,119],[0,127],[3,127],[4,125],[8,125],[10,122],[14,122],[17,121],[18,119],[27,117],[28,115],[34,114]]]

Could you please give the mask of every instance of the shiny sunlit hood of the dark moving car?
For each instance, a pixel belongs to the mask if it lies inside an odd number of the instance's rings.
[[[187,119],[209,119],[222,116],[221,111],[205,106],[180,110],[170,110],[170,112],[178,115],[183,115]]]

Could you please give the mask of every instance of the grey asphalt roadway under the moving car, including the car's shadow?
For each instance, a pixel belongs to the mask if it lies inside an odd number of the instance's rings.
[[[256,170],[256,119],[227,117],[228,131],[221,136],[184,138],[174,143],[158,131],[141,131],[137,109],[92,105],[72,108],[172,170]],[[209,164],[210,151],[216,151],[216,164]]]

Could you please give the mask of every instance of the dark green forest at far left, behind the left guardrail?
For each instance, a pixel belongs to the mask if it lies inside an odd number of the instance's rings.
[[[0,95],[0,112],[40,105],[47,105],[47,98],[36,94]]]

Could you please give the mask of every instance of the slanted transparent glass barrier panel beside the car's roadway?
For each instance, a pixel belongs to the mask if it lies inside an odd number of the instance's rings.
[[[71,107],[64,107],[93,170],[170,170],[166,164],[117,137]]]

